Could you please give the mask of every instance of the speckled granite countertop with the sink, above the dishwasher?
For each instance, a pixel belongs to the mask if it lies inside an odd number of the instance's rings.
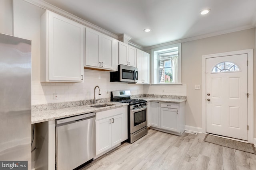
[[[84,113],[99,112],[107,109],[114,109],[114,108],[128,105],[126,103],[104,102],[104,104],[114,104],[114,105],[106,106],[106,107],[90,107],[90,106],[99,105],[99,104],[102,104],[102,103],[76,106],[76,107],[67,107],[62,109],[52,109],[52,110],[45,110],[45,111],[32,111],[31,124],[75,116],[75,115],[81,115]]]

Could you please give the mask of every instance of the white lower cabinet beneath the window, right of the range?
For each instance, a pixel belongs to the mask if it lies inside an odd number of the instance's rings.
[[[185,131],[185,102],[150,102],[151,127],[159,131],[182,135]]]

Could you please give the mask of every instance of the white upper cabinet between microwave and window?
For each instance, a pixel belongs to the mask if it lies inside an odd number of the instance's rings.
[[[137,84],[149,84],[150,75],[150,54],[137,49],[136,64],[138,68],[138,82]]]

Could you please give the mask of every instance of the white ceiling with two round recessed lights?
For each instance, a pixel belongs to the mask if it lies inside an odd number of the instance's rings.
[[[141,47],[256,25],[256,0],[44,1],[116,35],[124,33]],[[200,15],[206,8],[211,11]]]

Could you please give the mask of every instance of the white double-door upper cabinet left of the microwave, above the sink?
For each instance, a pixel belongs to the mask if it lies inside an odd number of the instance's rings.
[[[113,38],[86,27],[84,63],[86,68],[112,70],[117,50]]]

